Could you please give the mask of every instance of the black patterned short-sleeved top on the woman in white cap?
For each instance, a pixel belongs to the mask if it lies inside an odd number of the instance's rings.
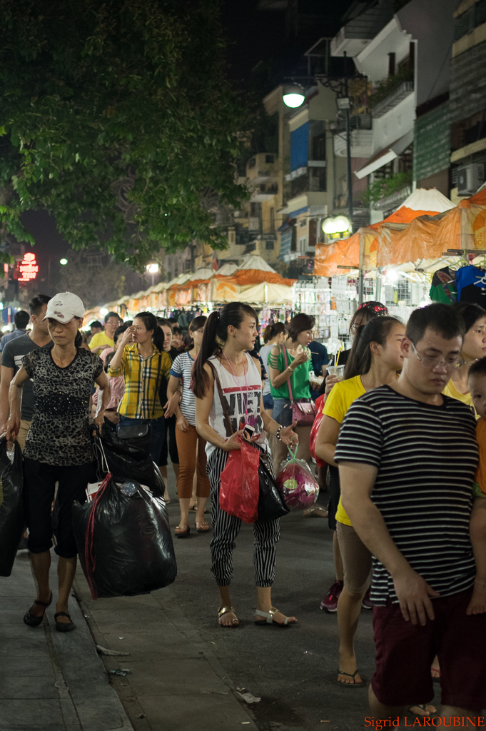
[[[90,350],[77,349],[72,363],[60,368],[52,345],[33,350],[22,365],[34,384],[34,414],[24,457],[59,466],[93,461],[89,431],[91,384],[103,363]]]

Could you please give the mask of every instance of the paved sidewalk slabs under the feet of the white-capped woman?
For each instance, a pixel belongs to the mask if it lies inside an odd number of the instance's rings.
[[[56,587],[53,554],[51,585]],[[56,590],[43,623],[22,618],[37,592],[26,551],[0,577],[0,731],[132,731],[75,599],[75,632],[56,632]]]

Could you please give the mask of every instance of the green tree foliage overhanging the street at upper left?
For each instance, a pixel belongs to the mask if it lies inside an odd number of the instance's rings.
[[[225,76],[217,0],[0,0],[0,221],[45,208],[73,249],[142,269],[238,205],[248,115]]]

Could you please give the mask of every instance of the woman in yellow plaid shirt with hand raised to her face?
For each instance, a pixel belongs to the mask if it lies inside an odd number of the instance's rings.
[[[169,378],[172,361],[164,352],[164,333],[151,312],[139,312],[118,341],[108,367],[111,378],[124,376],[125,391],[118,406],[120,424],[151,425],[151,457],[158,465],[165,436],[159,387]]]

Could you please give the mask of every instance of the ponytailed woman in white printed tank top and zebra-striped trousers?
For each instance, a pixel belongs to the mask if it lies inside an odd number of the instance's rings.
[[[221,626],[238,626],[238,618],[229,596],[232,579],[232,552],[241,520],[219,507],[221,472],[229,452],[240,449],[240,439],[249,439],[270,456],[263,431],[274,434],[284,444],[297,442],[293,425],[278,425],[265,412],[262,403],[262,374],[253,350],[257,338],[257,313],[250,306],[234,302],[221,312],[212,312],[206,322],[199,356],[194,364],[193,390],[196,397],[196,428],[207,442],[208,476],[213,503],[213,538],[211,569],[219,586]],[[219,386],[226,404],[219,396]],[[229,421],[224,417],[227,410]],[[231,429],[229,426],[231,425]],[[247,429],[244,431],[245,426]],[[249,434],[252,436],[249,436]],[[278,520],[254,525],[254,567],[257,584],[256,624],[293,624],[272,607],[271,586],[275,577],[276,544],[280,535]]]

